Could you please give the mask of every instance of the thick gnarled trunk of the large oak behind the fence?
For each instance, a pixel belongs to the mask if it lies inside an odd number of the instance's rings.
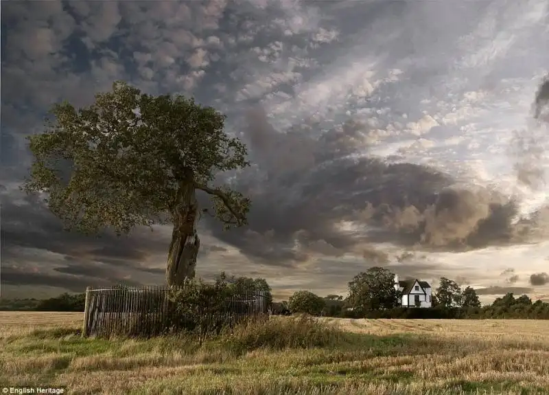
[[[180,286],[185,278],[194,278],[200,247],[196,233],[198,201],[192,182],[181,183],[172,214],[174,230],[167,258],[166,282],[168,286]]]

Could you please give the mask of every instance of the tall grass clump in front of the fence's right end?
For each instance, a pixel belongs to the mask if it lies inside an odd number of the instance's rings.
[[[257,348],[317,348],[337,346],[347,337],[335,328],[314,317],[254,317],[246,319],[220,334],[220,341],[233,350],[250,351]]]

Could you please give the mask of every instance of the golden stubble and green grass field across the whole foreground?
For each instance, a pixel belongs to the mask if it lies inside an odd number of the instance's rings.
[[[549,394],[549,321],[274,317],[202,345],[0,312],[0,385],[69,394]]]

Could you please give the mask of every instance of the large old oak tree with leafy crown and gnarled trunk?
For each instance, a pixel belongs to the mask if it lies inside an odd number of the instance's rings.
[[[196,191],[211,195],[225,227],[246,224],[250,200],[215,174],[249,166],[246,146],[224,132],[225,116],[182,95],[148,95],[125,82],[95,95],[91,106],[51,110],[23,190],[45,192],[67,229],[127,234],[136,226],[173,224],[166,281],[193,278],[200,241]]]

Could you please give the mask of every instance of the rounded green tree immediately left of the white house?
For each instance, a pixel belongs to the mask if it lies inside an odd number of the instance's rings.
[[[349,304],[361,311],[398,306],[395,275],[382,267],[371,267],[358,273],[349,282]]]

